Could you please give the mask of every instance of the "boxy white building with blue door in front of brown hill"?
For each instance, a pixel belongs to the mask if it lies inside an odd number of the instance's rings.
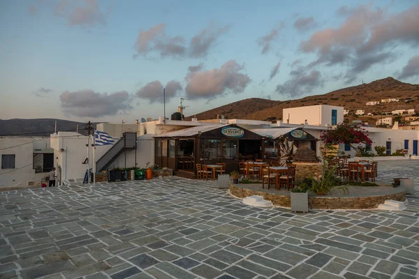
[[[344,108],[334,105],[310,105],[282,110],[284,123],[313,126],[337,125],[344,121]]]

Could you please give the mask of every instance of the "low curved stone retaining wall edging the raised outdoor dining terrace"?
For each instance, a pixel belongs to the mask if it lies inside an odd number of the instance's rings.
[[[230,185],[230,193],[240,198],[258,195],[276,206],[291,207],[290,195],[278,195],[233,185]],[[376,209],[378,204],[383,204],[386,199],[403,202],[406,199],[406,193],[370,197],[309,197],[309,209]]]

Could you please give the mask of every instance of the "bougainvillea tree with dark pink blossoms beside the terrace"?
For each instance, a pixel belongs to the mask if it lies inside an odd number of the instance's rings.
[[[349,144],[359,157],[362,157],[362,151],[354,144],[372,144],[367,130],[348,123],[339,123],[334,129],[323,130],[320,138],[325,144]]]

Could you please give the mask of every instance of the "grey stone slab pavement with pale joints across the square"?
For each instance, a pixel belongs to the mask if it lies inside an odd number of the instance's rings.
[[[0,278],[413,279],[419,195],[408,199],[291,213],[177,177],[2,192]]]

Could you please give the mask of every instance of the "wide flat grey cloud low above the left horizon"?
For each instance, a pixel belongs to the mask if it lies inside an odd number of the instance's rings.
[[[101,117],[131,110],[126,91],[98,93],[91,89],[64,91],[59,97],[61,110],[69,116]]]

